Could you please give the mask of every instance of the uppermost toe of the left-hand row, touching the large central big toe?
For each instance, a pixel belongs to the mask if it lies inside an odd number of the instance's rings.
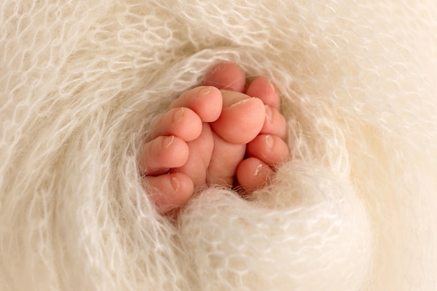
[[[203,122],[218,119],[223,106],[221,92],[216,87],[200,86],[185,91],[170,104],[170,108],[188,107],[198,114]]]

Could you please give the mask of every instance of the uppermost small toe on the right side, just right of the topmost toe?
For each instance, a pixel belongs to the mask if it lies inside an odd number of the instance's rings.
[[[266,77],[256,77],[244,93],[252,97],[260,98],[265,105],[272,106],[276,109],[279,108],[281,100],[279,91]]]

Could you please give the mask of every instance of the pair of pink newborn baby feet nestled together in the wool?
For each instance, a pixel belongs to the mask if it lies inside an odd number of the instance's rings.
[[[265,77],[247,89],[245,82],[239,66],[219,64],[152,124],[140,169],[161,213],[181,207],[205,184],[239,185],[250,193],[266,186],[288,158],[278,91]]]

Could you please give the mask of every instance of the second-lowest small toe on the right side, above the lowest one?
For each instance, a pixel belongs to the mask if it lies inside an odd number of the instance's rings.
[[[267,165],[278,165],[287,160],[290,151],[286,142],[276,135],[258,135],[247,144],[248,156],[258,158]]]

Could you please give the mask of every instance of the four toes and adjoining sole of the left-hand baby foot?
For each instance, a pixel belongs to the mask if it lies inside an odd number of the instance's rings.
[[[197,87],[179,96],[152,124],[139,165],[161,213],[182,206],[195,186],[205,184],[214,146],[208,123],[218,119],[222,104],[218,89]]]

